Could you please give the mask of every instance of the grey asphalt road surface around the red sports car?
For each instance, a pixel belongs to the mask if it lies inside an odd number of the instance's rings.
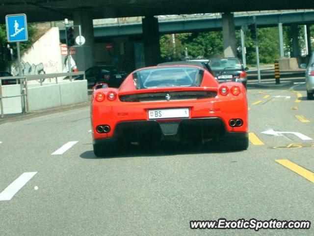
[[[254,134],[246,151],[134,146],[96,158],[87,106],[0,125],[0,235],[313,236],[314,229],[189,228],[190,220],[219,218],[314,222],[314,141],[262,133],[314,139],[314,101],[304,84],[289,87],[248,89]]]

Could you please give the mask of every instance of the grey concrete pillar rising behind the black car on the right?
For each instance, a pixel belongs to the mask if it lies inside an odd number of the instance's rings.
[[[227,12],[222,14],[222,34],[225,57],[236,57],[235,19],[233,13]]]

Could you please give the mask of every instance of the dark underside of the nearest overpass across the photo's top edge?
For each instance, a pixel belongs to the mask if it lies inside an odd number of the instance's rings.
[[[1,0],[0,23],[6,14],[24,12],[30,22],[72,19],[75,12],[94,19],[208,12],[311,9],[313,0]]]

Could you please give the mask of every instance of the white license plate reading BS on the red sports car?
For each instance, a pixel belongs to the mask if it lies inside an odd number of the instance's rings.
[[[164,110],[149,110],[149,119],[163,119],[163,118],[188,118],[190,111],[188,108],[182,109],[164,109]]]

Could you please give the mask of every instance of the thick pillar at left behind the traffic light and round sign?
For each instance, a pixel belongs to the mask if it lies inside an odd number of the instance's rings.
[[[83,46],[76,47],[75,61],[79,71],[84,71],[95,65],[95,43],[93,16],[88,11],[75,11],[73,13],[73,24],[81,26],[81,34],[86,41]],[[78,35],[78,28],[75,28],[75,37]]]

